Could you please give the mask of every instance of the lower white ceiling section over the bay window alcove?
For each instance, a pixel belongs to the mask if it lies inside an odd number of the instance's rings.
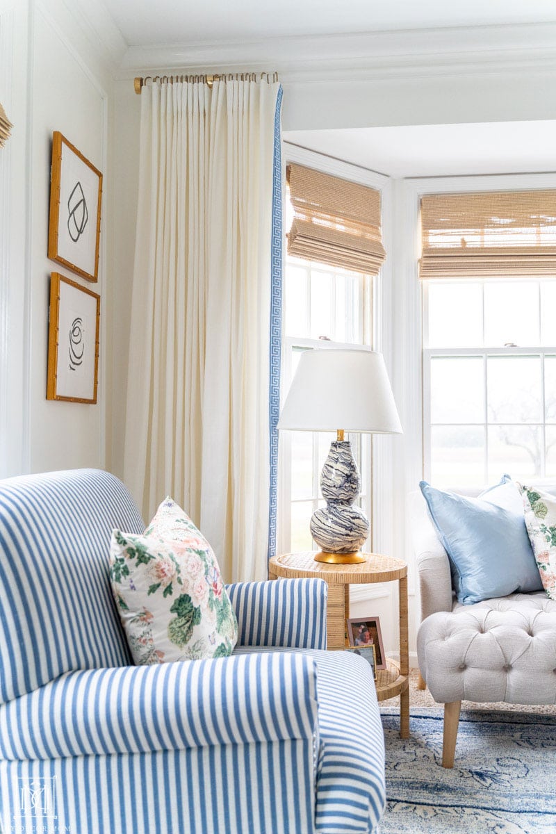
[[[553,171],[556,121],[296,130],[302,148],[390,177]]]

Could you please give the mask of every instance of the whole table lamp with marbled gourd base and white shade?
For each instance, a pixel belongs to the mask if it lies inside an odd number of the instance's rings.
[[[338,428],[339,427],[339,428]],[[315,510],[311,535],[321,550],[318,562],[354,565],[365,557],[368,518],[353,502],[361,478],[344,432],[401,434],[398,410],[382,354],[370,350],[306,350],[299,360],[278,429],[337,430],[320,486],[326,507]]]

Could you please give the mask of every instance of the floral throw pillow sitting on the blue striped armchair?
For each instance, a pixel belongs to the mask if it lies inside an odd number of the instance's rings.
[[[218,562],[171,498],[143,535],[113,531],[110,576],[136,664],[232,654],[238,621]]]

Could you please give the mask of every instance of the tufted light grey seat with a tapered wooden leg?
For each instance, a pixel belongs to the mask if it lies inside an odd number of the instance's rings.
[[[443,766],[453,766],[461,701],[556,703],[556,602],[511,594],[429,615],[418,631],[421,674],[444,704]]]

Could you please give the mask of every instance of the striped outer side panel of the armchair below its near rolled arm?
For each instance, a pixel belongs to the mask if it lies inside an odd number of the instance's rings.
[[[313,834],[313,747],[0,761],[0,801],[6,834]]]

